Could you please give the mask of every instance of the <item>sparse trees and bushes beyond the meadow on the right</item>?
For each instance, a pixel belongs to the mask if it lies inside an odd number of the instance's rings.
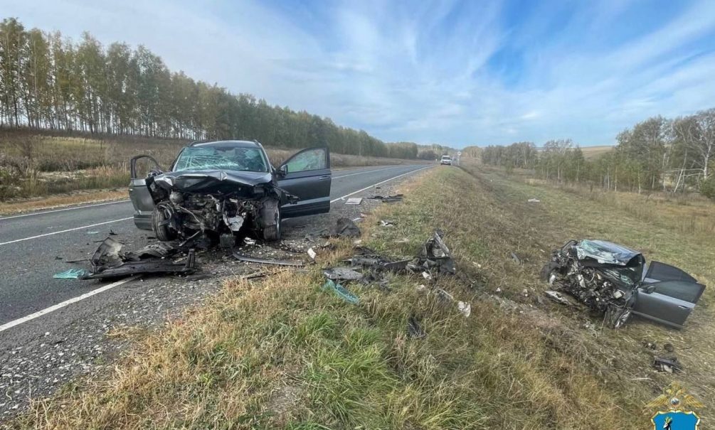
[[[607,190],[699,190],[715,198],[715,108],[676,119],[654,116],[616,136],[616,146],[586,158],[571,139],[487,146],[483,163],[533,169],[543,179],[581,182]]]

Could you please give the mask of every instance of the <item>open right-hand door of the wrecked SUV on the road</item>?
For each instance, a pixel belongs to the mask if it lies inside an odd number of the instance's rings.
[[[330,151],[303,149],[278,168],[278,186],[300,200],[280,208],[282,218],[330,211]]]

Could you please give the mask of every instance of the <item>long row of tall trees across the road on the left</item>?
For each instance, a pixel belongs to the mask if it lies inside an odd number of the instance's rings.
[[[170,71],[144,46],[89,33],[74,43],[56,31],[0,23],[0,126],[187,140],[257,139],[267,146],[328,146],[340,154],[416,159],[420,146],[385,144],[329,118],[270,106],[250,94]]]

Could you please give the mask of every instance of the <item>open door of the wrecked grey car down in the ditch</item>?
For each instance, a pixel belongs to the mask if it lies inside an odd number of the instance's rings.
[[[681,329],[704,290],[681,269],[654,261],[638,288],[633,314]]]

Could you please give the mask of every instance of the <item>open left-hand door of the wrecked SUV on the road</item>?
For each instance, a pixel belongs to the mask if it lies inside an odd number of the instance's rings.
[[[137,161],[140,160],[144,162],[137,166]],[[149,183],[153,180],[149,176],[149,172],[159,174],[162,173],[162,169],[154,157],[139,155],[129,160],[129,172],[131,174],[129,199],[132,200],[132,205],[134,205],[134,224],[139,229],[151,230],[154,199],[152,199],[152,194],[149,192]]]

